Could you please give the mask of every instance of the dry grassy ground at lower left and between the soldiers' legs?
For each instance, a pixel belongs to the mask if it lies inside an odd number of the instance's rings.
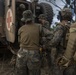
[[[12,75],[14,66],[10,64],[11,56],[3,55],[0,57],[0,75]],[[48,66],[41,69],[41,75],[50,75]]]

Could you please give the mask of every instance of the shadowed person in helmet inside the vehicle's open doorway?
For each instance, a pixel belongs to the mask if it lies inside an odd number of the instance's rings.
[[[25,24],[24,21],[21,21],[21,18],[22,18],[22,13],[25,11],[26,7],[24,4],[20,4],[18,7],[17,7],[17,13],[16,13],[16,41],[18,42],[18,29]]]

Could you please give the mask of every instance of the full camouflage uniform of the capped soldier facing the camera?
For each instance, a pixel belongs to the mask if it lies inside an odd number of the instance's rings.
[[[53,35],[51,33],[51,31],[45,27],[42,26],[42,48],[43,48],[43,59],[45,59],[45,63],[44,61],[42,61],[42,65],[44,64],[48,64],[48,66],[50,67],[50,63],[51,63],[51,47],[49,45],[49,41],[52,39]]]

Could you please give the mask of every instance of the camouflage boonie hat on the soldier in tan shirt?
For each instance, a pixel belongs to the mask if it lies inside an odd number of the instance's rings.
[[[21,19],[21,21],[23,22],[31,21],[34,18],[31,10],[24,11],[22,15],[23,15],[23,18]]]

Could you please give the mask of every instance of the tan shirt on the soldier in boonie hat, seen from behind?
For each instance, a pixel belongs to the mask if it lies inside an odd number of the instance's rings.
[[[24,25],[18,31],[20,47],[28,50],[39,50],[40,26],[38,24]]]

